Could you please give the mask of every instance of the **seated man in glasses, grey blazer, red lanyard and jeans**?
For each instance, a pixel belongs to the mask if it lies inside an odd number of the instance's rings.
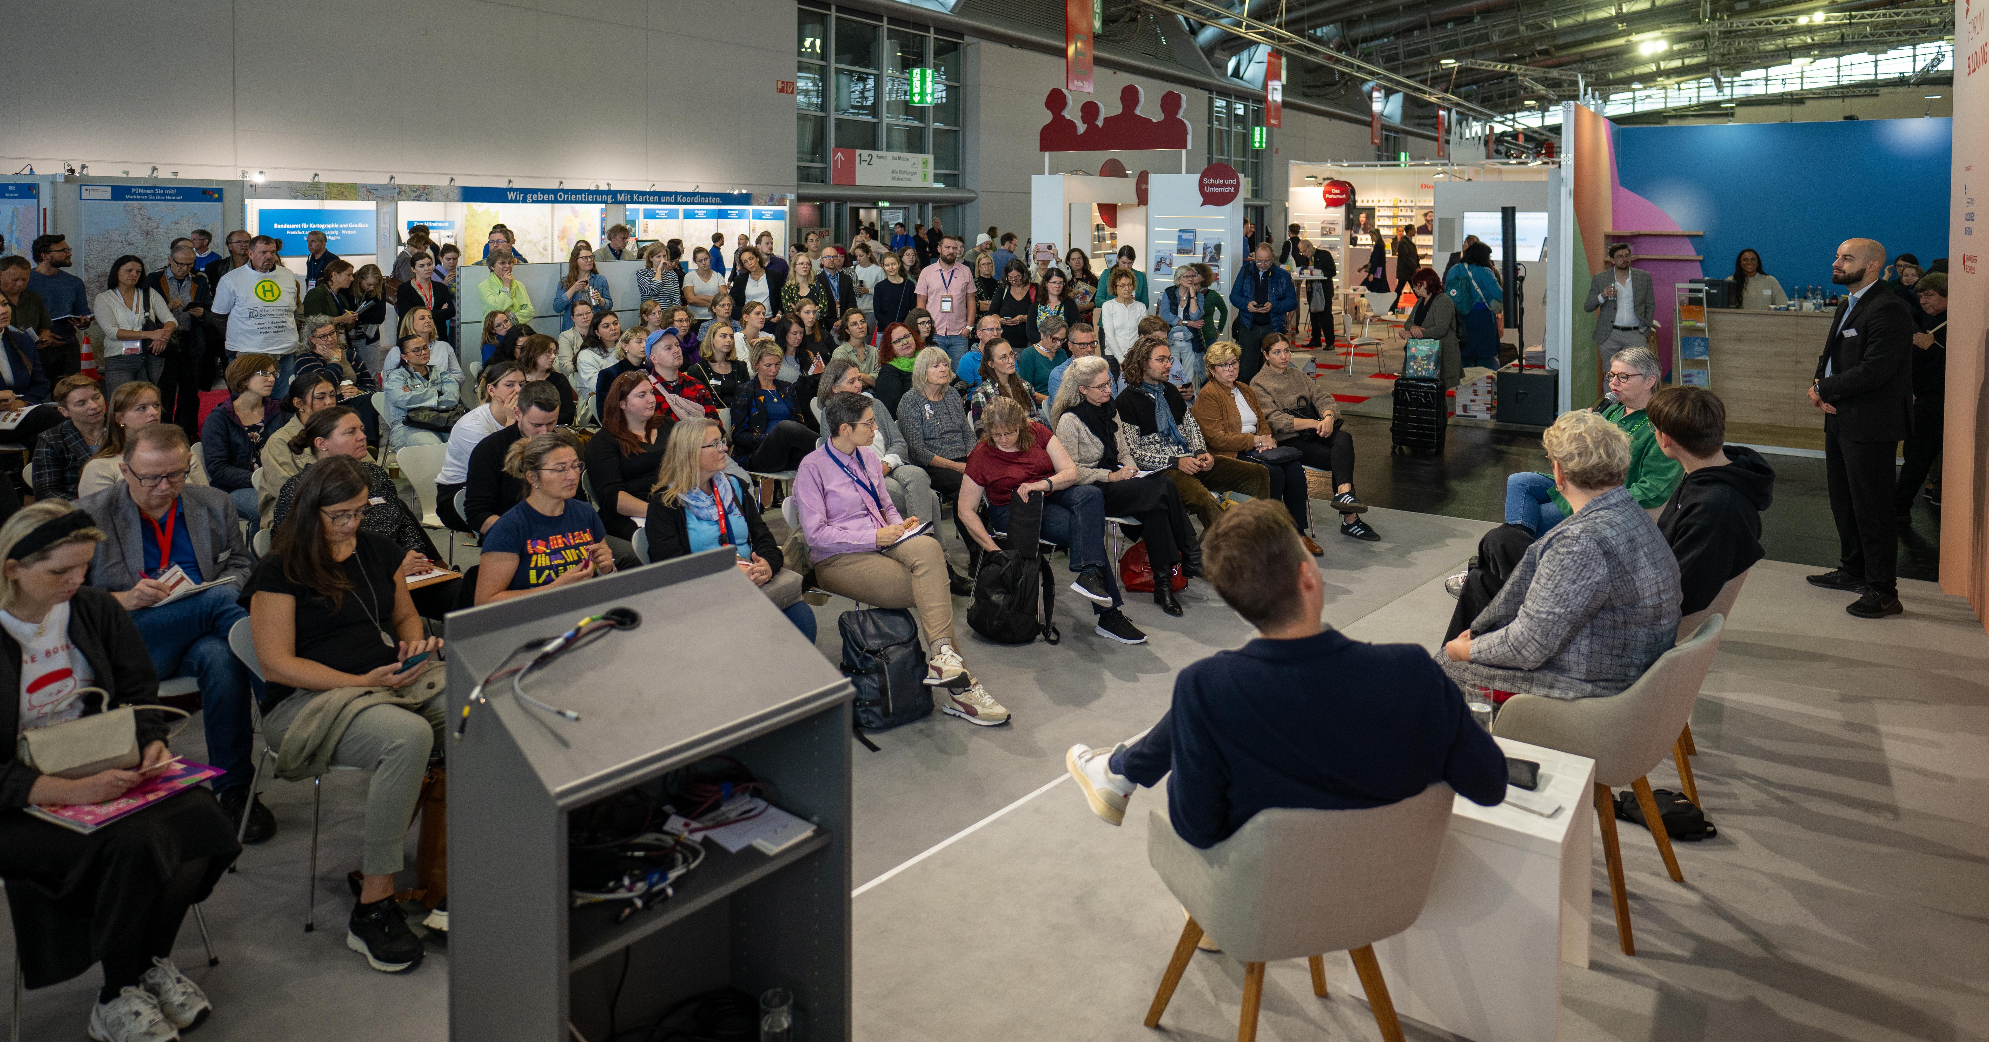
[[[97,519],[105,537],[90,567],[90,585],[109,591],[131,612],[161,678],[201,682],[207,762],[227,772],[213,780],[215,795],[223,813],[241,821],[255,774],[253,694],[249,668],[229,650],[229,628],[247,618],[235,599],[255,559],[235,523],[235,503],[219,489],[189,483],[193,447],[187,432],[171,424],[133,430],[117,467],[117,483],[76,501]],[[235,583],[161,605],[171,591],[159,577],[175,565],[195,585]],[[261,843],[274,833],[276,817],[257,801],[243,841]]]

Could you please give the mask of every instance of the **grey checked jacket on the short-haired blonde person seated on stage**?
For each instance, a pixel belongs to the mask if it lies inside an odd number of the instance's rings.
[[[1472,660],[1436,658],[1458,686],[1623,694],[1679,636],[1679,559],[1621,485],[1526,549],[1472,620]]]

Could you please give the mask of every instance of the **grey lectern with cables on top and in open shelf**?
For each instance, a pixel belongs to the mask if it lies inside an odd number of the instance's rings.
[[[617,607],[640,626],[525,680],[579,722],[503,682],[450,744],[450,1038],[605,1038],[627,966],[621,1028],[710,988],[782,986],[810,1042],[847,1040],[851,688],[728,553],[452,614],[450,736],[513,648]],[[706,843],[674,897],[621,925],[621,903],[573,909],[567,813],[712,754],[772,782],[815,833],[772,857]]]

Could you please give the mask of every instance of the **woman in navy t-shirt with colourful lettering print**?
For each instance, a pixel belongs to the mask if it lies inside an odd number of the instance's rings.
[[[503,469],[529,489],[483,533],[477,605],[615,571],[609,531],[581,491],[581,451],[567,432],[515,441]]]

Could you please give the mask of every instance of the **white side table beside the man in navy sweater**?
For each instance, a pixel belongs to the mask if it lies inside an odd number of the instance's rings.
[[[1498,738],[1539,764],[1539,817],[1462,795],[1416,925],[1374,945],[1402,1016],[1476,1042],[1551,1042],[1561,962],[1589,964],[1595,762]]]

